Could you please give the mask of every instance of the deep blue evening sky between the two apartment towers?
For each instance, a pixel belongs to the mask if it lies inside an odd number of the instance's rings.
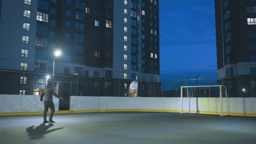
[[[161,80],[217,77],[214,0],[160,0]]]

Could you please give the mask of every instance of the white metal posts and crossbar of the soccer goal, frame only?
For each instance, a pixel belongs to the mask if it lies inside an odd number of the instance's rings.
[[[183,88],[191,88],[191,87],[219,87],[219,97],[220,97],[220,116],[224,116],[223,115],[223,110],[222,110],[222,87],[225,87],[225,94],[226,94],[226,99],[228,98],[228,95],[226,93],[226,86],[222,86],[222,85],[208,85],[208,86],[181,86],[181,113],[183,113]]]

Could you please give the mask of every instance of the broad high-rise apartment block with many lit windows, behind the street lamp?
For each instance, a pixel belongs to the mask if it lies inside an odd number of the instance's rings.
[[[159,0],[1,0],[0,9],[2,70],[159,80]]]

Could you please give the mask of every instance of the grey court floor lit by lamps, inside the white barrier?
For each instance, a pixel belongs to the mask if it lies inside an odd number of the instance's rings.
[[[0,116],[0,143],[256,143],[256,117],[162,112]]]

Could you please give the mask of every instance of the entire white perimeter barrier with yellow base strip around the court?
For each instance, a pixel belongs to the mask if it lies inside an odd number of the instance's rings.
[[[38,95],[0,95],[0,116],[43,113]],[[59,99],[54,97],[55,113],[147,111],[181,112],[181,98],[146,97],[82,97],[71,96],[70,110],[58,111]],[[256,116],[256,98],[222,98],[223,114]],[[183,98],[183,112],[220,114],[220,98]]]

